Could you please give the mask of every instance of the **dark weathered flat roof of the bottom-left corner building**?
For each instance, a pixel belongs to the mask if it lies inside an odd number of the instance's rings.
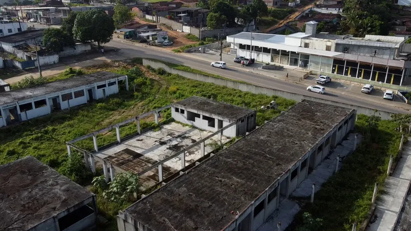
[[[28,156],[0,166],[0,230],[29,230],[94,194]]]

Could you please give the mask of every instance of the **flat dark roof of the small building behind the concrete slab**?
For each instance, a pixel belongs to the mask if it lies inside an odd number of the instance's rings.
[[[184,99],[177,103],[173,103],[172,105],[219,115],[220,117],[228,118],[230,120],[237,120],[253,112],[253,110],[249,108],[239,107],[197,96]]]

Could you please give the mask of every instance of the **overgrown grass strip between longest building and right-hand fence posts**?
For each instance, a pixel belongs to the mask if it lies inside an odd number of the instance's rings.
[[[379,183],[379,192],[384,190],[389,156],[397,156],[401,141],[401,134],[395,131],[398,123],[380,121],[378,128],[369,132],[368,119],[365,115],[358,116],[356,129],[364,136],[361,145],[344,159],[340,171],[322,185],[315,194],[314,204],[309,203],[309,198],[302,199],[305,205],[288,230],[302,223],[305,212],[323,219],[321,230],[351,230],[352,223],[360,224],[366,218],[374,184]]]

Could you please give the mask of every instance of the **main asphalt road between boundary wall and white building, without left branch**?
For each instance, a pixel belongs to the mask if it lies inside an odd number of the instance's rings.
[[[308,95],[310,97],[322,98],[326,100],[352,104],[357,106],[363,106],[368,108],[375,108],[377,110],[382,111],[389,111],[393,113],[409,113],[406,110],[389,107],[385,105],[379,105],[375,103],[371,103],[366,100],[362,100],[359,98],[349,97],[347,95],[336,94],[336,93],[327,93],[323,95],[319,95],[313,92],[308,92],[305,86],[294,84],[282,80],[277,80],[273,78],[269,78],[264,75],[252,73],[252,72],[245,72],[236,69],[217,69],[210,66],[209,62],[201,61],[197,59],[192,59],[188,56],[184,56],[181,54],[175,54],[168,51],[159,51],[158,49],[153,49],[151,47],[143,47],[143,46],[136,46],[133,44],[124,43],[121,41],[111,41],[107,46],[116,47],[121,49],[118,51],[119,56],[123,57],[147,57],[151,59],[158,59],[167,61],[170,63],[181,64],[185,66],[189,66],[191,68],[195,68],[202,71],[207,71],[212,74],[218,74],[224,76],[229,79],[239,80],[251,83],[257,86],[263,86],[278,90],[289,91],[293,93]]]

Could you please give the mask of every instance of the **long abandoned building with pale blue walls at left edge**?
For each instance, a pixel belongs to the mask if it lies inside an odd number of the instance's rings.
[[[118,93],[127,76],[97,72],[54,81],[37,87],[0,92],[0,127],[30,120]]]

